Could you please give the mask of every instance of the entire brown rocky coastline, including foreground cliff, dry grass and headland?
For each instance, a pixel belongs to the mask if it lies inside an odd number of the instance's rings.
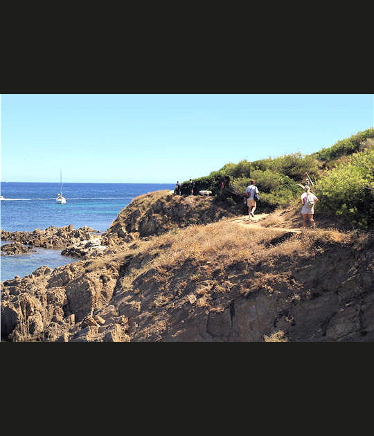
[[[78,257],[1,282],[1,340],[374,340],[373,233],[283,240],[270,226],[239,230],[237,215],[208,197],[158,191],[101,235],[1,232]]]

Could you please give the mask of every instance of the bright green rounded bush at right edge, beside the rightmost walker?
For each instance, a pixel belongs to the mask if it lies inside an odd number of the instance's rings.
[[[353,154],[317,182],[319,210],[344,215],[352,224],[374,224],[374,150]]]

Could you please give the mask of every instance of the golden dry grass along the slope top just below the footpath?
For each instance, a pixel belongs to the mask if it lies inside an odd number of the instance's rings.
[[[187,228],[172,230],[160,236],[151,237],[148,241],[139,241],[139,245],[130,249],[127,248],[121,254],[112,258],[116,262],[125,255],[137,255],[139,253],[159,253],[159,256],[136,271],[149,269],[150,266],[159,271],[167,271],[169,266],[184,264],[190,260],[201,266],[209,265],[210,269],[233,264],[240,260],[253,262],[263,260],[266,257],[274,258],[279,255],[310,256],[318,254],[315,251],[316,245],[335,243],[344,244],[352,242],[352,235],[341,233],[338,230],[305,230],[302,233],[295,233],[285,242],[269,246],[265,244],[276,239],[281,234],[279,231],[271,231],[271,228],[251,229],[239,228],[233,225],[229,219],[222,219],[213,224],[192,225]],[[165,270],[166,268],[166,270]],[[134,279],[134,274],[132,274]],[[199,269],[190,277],[196,282],[204,281],[204,271]]]

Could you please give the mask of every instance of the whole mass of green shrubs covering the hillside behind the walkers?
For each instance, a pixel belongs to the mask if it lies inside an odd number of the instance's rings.
[[[310,155],[297,152],[252,162],[244,159],[239,163],[226,163],[220,170],[195,179],[195,194],[199,190],[211,190],[215,201],[222,201],[226,206],[238,205],[242,204],[250,180],[255,179],[260,190],[258,212],[271,212],[299,201],[299,183],[310,176],[317,181],[320,210],[344,214],[360,226],[372,226],[373,149],[374,129],[371,128]],[[327,176],[319,174],[319,165],[330,168]],[[331,170],[336,165],[335,170]],[[222,181],[224,190],[220,189]],[[190,194],[189,181],[181,184],[181,192]]]

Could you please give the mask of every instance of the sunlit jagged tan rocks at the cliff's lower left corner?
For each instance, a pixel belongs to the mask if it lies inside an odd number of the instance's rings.
[[[112,268],[87,272],[81,261],[54,270],[42,266],[25,278],[2,282],[2,340],[66,340],[64,334],[75,325],[81,334],[87,327],[81,321],[95,309],[107,307],[116,275]],[[95,319],[98,325],[105,323],[100,316]],[[112,327],[102,332],[107,334]]]

